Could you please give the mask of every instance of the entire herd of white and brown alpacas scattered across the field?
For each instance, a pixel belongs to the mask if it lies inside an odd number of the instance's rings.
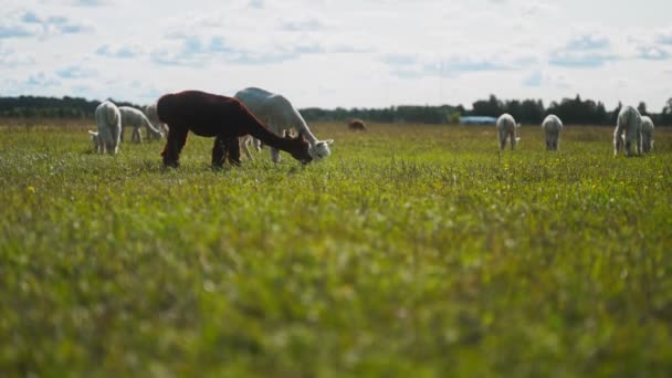
[[[178,167],[179,156],[189,132],[203,137],[214,137],[212,166],[221,167],[224,161],[240,165],[241,150],[252,159],[250,146],[256,151],[262,144],[270,147],[271,159],[280,162],[280,150],[292,155],[303,164],[328,157],[333,139],[319,140],[308,128],[298,111],[284,96],[261,88],[249,87],[233,97],[217,94],[185,91],[166,94],[156,104],[139,109],[120,106],[111,101],[102,103],[95,111],[97,132],[88,132],[94,148],[99,154],[115,155],[124,139],[124,127],[132,126],[132,141],[141,143],[141,128],[147,129],[149,139],[167,136],[161,156],[167,167]],[[496,120],[500,150],[515,149],[521,140],[519,125],[507,113]],[[348,123],[350,130],[366,130],[361,119]],[[563,122],[556,115],[548,115],[542,123],[546,149],[559,148]],[[296,129],[292,137],[288,130]],[[653,149],[653,122],[642,116],[634,107],[623,106],[618,114],[613,132],[613,155],[621,150],[626,156],[642,155]]]

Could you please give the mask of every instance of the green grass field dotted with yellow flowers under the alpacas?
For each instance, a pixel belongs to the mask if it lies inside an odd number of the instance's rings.
[[[672,374],[672,130],[369,125],[302,167],[0,129],[0,376]]]

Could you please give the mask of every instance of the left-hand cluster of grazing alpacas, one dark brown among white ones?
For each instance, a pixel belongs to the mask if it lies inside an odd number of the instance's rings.
[[[161,153],[166,167],[179,166],[189,132],[214,137],[213,167],[221,167],[224,161],[240,165],[241,149],[252,159],[250,145],[259,151],[262,143],[271,148],[274,162],[280,161],[280,150],[284,150],[306,164],[328,157],[334,143],[318,140],[284,96],[260,88],[242,90],[234,97],[200,91],[167,94],[145,107],[145,113],[106,101],[95,115],[98,130],[88,133],[96,151],[117,154],[125,126],[134,128],[132,141],[141,143],[140,129],[145,127],[150,139],[167,136]],[[287,135],[292,128],[298,132],[296,137]]]

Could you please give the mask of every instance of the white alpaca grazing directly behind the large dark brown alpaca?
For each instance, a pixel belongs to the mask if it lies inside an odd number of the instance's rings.
[[[313,159],[322,159],[332,154],[329,145],[334,143],[334,139],[317,140],[298,111],[284,96],[252,87],[239,91],[234,97],[240,99],[273,133],[282,135],[283,130],[295,128],[308,140],[311,145],[308,154]],[[279,149],[271,148],[271,159],[274,162],[280,161]]]

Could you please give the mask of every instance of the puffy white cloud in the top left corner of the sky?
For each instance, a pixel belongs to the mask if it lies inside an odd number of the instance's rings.
[[[93,31],[93,27],[87,23],[62,15],[40,15],[33,11],[12,12],[0,21],[0,39],[45,38],[90,31]]]

